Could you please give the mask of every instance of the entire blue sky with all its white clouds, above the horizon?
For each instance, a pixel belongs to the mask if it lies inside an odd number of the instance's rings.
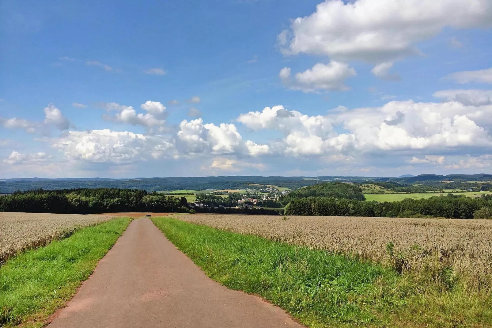
[[[0,177],[490,173],[491,22],[489,0],[2,1]]]

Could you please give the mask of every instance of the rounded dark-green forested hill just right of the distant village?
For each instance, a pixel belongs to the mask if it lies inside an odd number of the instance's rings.
[[[290,192],[281,199],[281,202],[286,204],[292,199],[305,197],[334,197],[354,200],[366,199],[361,188],[356,185],[342,182],[325,182]]]

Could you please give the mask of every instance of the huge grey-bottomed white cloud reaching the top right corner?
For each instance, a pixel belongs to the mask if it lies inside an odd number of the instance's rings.
[[[492,25],[490,0],[326,0],[278,35],[284,54],[360,60],[384,74],[392,63],[420,54],[416,44],[445,27]]]

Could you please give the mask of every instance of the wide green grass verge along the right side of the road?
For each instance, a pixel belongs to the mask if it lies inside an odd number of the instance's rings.
[[[432,294],[377,263],[169,217],[152,221],[209,277],[261,295],[310,327],[491,327],[490,310],[428,307]]]

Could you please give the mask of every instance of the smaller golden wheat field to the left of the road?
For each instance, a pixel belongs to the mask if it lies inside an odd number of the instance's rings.
[[[0,213],[0,263],[73,231],[110,220],[106,215]]]

